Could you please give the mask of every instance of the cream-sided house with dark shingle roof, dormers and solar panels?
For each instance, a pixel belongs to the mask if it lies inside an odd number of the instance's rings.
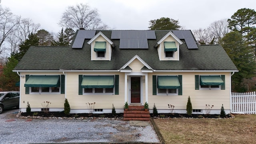
[[[71,46],[31,46],[13,70],[20,75],[20,109],[124,112],[124,103],[150,112],[230,112],[231,76],[238,72],[220,45],[199,45],[190,30],[77,30]]]

